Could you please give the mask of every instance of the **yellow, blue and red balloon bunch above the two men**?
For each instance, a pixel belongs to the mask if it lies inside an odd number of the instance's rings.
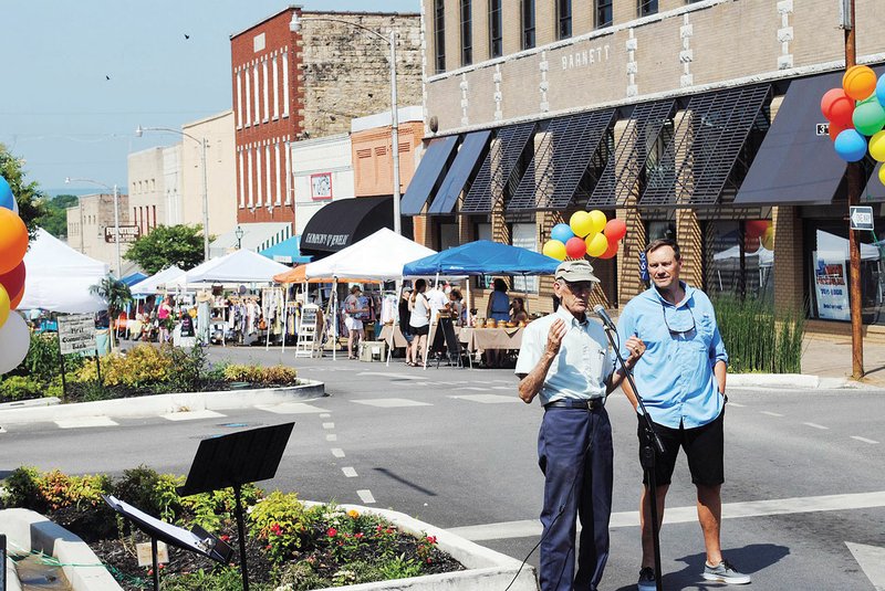
[[[617,254],[618,242],[627,234],[622,220],[606,220],[605,213],[576,211],[569,223],[558,223],[550,231],[550,240],[542,252],[558,261],[565,257],[583,258],[585,254],[597,258],[612,258]]]

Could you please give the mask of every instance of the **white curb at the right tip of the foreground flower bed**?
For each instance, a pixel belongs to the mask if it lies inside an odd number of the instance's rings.
[[[308,506],[324,505],[316,502],[303,502]],[[534,567],[522,566],[514,558],[502,555],[483,546],[479,546],[451,531],[419,521],[414,517],[391,509],[376,509],[362,505],[339,505],[340,508],[355,509],[384,517],[402,531],[413,536],[429,535],[437,539],[437,547],[451,556],[468,570],[442,572],[412,579],[394,579],[374,583],[361,583],[345,587],[320,589],[317,591],[501,591],[513,581],[513,591],[538,591]],[[519,574],[517,574],[519,573]],[[516,580],[514,580],[516,578]]]

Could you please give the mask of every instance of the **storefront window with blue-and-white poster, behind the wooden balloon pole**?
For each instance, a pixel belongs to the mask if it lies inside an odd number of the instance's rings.
[[[878,221],[878,220],[877,220]],[[851,320],[847,228],[844,222],[822,222],[813,230],[809,278],[812,318]],[[885,257],[872,232],[861,240],[861,298],[863,323],[885,325]]]

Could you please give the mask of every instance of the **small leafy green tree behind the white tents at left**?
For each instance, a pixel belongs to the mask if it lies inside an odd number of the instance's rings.
[[[158,225],[133,242],[124,257],[150,275],[171,265],[184,271],[194,268],[202,263],[202,226]]]

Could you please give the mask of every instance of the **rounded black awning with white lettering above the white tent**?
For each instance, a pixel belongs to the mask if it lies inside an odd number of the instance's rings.
[[[301,233],[301,252],[320,255],[337,252],[382,228],[394,229],[392,197],[332,201],[308,221]],[[403,220],[403,235],[412,235],[412,218]]]

